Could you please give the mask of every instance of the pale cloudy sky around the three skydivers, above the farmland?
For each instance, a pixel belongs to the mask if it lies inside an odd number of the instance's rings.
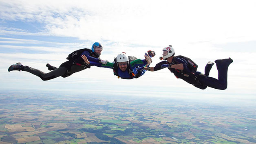
[[[254,0],[0,0],[0,91],[70,92],[185,99],[236,99],[256,104],[256,2]],[[197,89],[168,69],[124,80],[107,68],[92,67],[67,78],[42,81],[28,72],[8,72],[21,62],[48,72],[74,50],[104,47],[101,59],[121,52],[143,59],[172,45],[204,72],[208,61],[231,57],[228,86]],[[216,65],[210,76],[217,78]]]

